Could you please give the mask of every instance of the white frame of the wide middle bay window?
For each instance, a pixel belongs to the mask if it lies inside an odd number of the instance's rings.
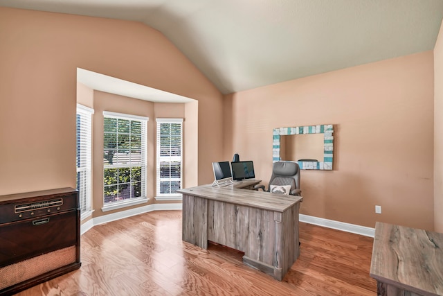
[[[149,121],[149,117],[103,111],[103,121],[105,121],[105,117],[106,118],[114,118],[114,119],[124,119],[124,120],[129,120],[129,121],[141,121],[141,123],[142,123],[142,149],[141,149],[142,153],[141,154],[142,155],[141,155],[141,162],[132,163],[129,165],[103,164],[103,172],[105,172],[105,169],[107,169],[107,168],[129,168],[129,167],[134,167],[134,166],[141,166],[142,167],[142,175],[141,175],[141,197],[130,198],[130,199],[122,200],[122,201],[118,201],[118,202],[109,202],[109,203],[105,204],[105,190],[103,190],[102,211],[111,211],[114,209],[129,207],[129,206],[133,206],[136,204],[143,204],[149,200],[146,195],[146,192],[147,192],[147,122]],[[105,130],[103,130],[103,134],[105,134]],[[105,189],[104,180],[102,180],[102,183],[103,183],[103,189]]]

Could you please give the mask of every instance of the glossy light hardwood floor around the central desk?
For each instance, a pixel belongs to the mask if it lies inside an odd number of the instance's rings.
[[[80,270],[17,295],[377,295],[372,241],[300,223],[300,258],[276,281],[241,252],[181,241],[181,211],[153,211],[93,227]]]

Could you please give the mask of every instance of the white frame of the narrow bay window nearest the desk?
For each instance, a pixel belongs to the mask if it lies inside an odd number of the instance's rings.
[[[181,123],[181,141],[180,141],[180,156],[161,156],[160,155],[160,136],[161,136],[161,123]],[[183,119],[156,119],[156,200],[182,200],[181,193],[160,193],[160,164],[161,162],[180,162],[180,178],[167,178],[166,180],[180,181],[180,189],[183,188]]]

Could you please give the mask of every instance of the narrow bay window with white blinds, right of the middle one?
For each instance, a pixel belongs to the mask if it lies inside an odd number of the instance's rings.
[[[156,119],[157,196],[177,196],[182,186],[183,119]]]

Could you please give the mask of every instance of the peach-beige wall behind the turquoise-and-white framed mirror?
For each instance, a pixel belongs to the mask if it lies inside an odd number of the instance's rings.
[[[433,229],[433,52],[230,94],[225,158],[271,176],[273,128],[334,125],[334,170],[302,171],[310,216]],[[383,214],[374,214],[381,205]]]

